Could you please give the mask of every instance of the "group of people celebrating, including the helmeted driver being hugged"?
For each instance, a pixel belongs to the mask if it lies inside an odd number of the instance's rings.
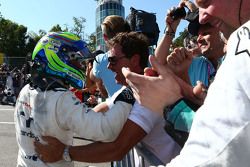
[[[102,23],[106,53],[72,33],[45,35],[16,102],[17,166],[119,161],[138,143],[161,162],[153,165],[249,166],[248,3],[181,0],[187,15],[168,11],[150,56],[147,36],[120,16]],[[189,34],[172,48],[182,19]],[[74,146],[75,134],[95,142]]]

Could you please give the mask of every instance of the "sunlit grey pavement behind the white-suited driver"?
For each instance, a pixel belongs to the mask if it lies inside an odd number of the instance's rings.
[[[0,167],[14,167],[17,159],[17,143],[14,126],[14,107],[0,105]],[[75,140],[75,144],[87,144],[83,140]],[[75,167],[98,166],[109,167],[110,163],[87,164],[75,163]]]

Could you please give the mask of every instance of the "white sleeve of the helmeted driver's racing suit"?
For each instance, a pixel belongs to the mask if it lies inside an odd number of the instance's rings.
[[[119,101],[106,113],[97,113],[69,93],[59,99],[57,106],[57,121],[61,128],[86,139],[104,142],[116,139],[132,108],[132,105]]]

